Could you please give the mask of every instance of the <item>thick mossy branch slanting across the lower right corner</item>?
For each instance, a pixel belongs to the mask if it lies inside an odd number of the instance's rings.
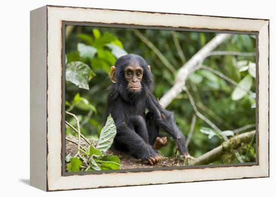
[[[255,135],[256,131],[250,131],[246,133],[239,134],[232,137],[230,140],[224,142],[220,146],[210,150],[209,152],[201,155],[200,157],[192,160],[189,165],[204,165],[214,162],[221,158],[225,151],[230,149],[230,146],[237,149],[241,146],[241,143],[249,143],[252,137]]]

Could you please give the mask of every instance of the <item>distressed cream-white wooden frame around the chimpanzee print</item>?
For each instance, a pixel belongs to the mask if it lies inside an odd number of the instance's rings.
[[[256,38],[258,39],[257,60],[259,65],[257,70],[259,77],[259,96],[257,97],[258,164],[252,166],[62,176],[62,21],[258,32]],[[31,184],[43,190],[52,191],[269,176],[268,29],[268,20],[255,19],[55,6],[45,6],[32,11],[31,105],[33,107],[31,107]],[[41,74],[40,77],[34,77],[37,75],[36,72]],[[39,83],[40,81],[41,83]],[[39,91],[41,94],[38,96],[36,93],[39,93]],[[46,98],[47,100],[44,101]],[[40,99],[42,103],[38,102]]]

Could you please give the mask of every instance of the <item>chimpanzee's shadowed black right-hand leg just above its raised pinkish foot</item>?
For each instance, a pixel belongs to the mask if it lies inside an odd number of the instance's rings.
[[[154,121],[153,114],[148,112],[146,115],[147,119],[147,128],[149,133],[149,143],[154,145],[155,139],[159,136],[159,126]]]

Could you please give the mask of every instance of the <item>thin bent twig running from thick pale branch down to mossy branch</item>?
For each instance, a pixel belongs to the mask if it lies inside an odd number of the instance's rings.
[[[209,126],[211,126],[213,129],[215,129],[215,130],[223,137],[223,139],[224,139],[225,141],[227,141],[227,140],[228,140],[227,136],[224,135],[224,134],[222,133],[222,131],[221,131],[211,120],[209,120],[207,117],[205,117],[202,113],[200,113],[200,112],[198,111],[197,106],[196,106],[196,104],[195,104],[195,101],[194,101],[194,99],[193,99],[193,97],[192,97],[190,91],[188,90],[188,88],[184,87],[183,89],[185,90],[185,92],[186,92],[186,94],[187,94],[187,96],[188,96],[188,98],[189,98],[189,101],[190,101],[190,103],[191,103],[191,105],[192,105],[192,107],[193,107],[193,109],[194,109],[194,111],[195,111],[195,114],[196,114],[200,119],[202,119],[204,122],[206,122],[207,124],[209,124]]]

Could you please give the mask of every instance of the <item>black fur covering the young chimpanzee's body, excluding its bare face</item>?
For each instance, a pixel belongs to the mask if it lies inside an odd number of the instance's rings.
[[[141,91],[127,90],[124,69],[127,65],[139,64],[143,69]],[[172,112],[165,110],[153,95],[153,75],[147,62],[139,55],[129,54],[115,63],[117,82],[109,87],[106,116],[111,113],[117,128],[115,148],[132,153],[137,158],[147,159],[158,155],[153,144],[162,128],[176,141],[181,154],[188,154],[185,138],[176,126]],[[149,110],[147,115],[146,109]]]

